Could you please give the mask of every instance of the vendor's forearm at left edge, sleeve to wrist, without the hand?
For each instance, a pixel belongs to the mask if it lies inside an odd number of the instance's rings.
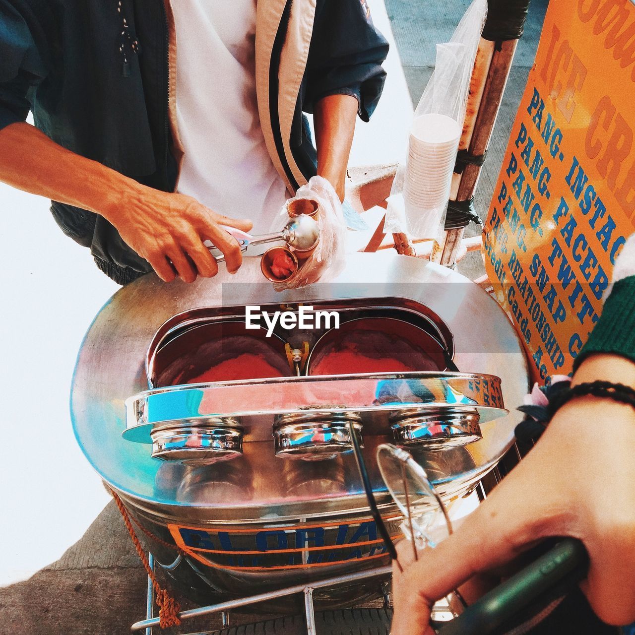
[[[0,180],[30,194],[116,215],[124,192],[144,186],[97,161],[70,152],[27,123],[0,130]]]

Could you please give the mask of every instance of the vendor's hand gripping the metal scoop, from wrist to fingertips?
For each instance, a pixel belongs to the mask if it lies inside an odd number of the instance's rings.
[[[124,194],[106,218],[165,282],[178,275],[190,283],[197,276],[218,273],[215,258],[203,244],[207,239],[224,253],[227,271],[235,273],[243,255],[236,239],[218,225],[251,229],[250,221],[221,216],[191,196],[143,186]]]

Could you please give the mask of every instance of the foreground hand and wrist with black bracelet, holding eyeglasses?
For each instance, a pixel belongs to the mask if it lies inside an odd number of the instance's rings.
[[[593,356],[574,383],[635,386],[635,364]],[[392,635],[431,635],[434,602],[479,572],[509,563],[547,537],[579,538],[589,552],[582,582],[609,624],[635,619],[635,415],[632,406],[581,397],[554,416],[528,456],[446,540],[394,570]],[[408,550],[404,550],[407,554]],[[401,561],[401,559],[400,559]]]

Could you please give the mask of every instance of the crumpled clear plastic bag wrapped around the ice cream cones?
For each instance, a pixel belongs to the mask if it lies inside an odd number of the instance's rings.
[[[284,281],[275,282],[274,289],[298,289],[318,280],[332,280],[344,269],[346,224],[342,203],[333,186],[323,177],[312,177],[306,185],[298,188],[295,196],[287,201],[312,199],[319,203],[316,220],[319,225],[319,242],[306,260],[300,260],[297,272]],[[276,219],[276,229],[283,227],[289,220],[287,206]]]

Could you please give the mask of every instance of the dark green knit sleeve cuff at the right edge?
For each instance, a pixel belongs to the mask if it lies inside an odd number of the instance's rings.
[[[575,359],[573,370],[594,353],[620,355],[635,362],[635,276],[613,284],[602,315]]]

